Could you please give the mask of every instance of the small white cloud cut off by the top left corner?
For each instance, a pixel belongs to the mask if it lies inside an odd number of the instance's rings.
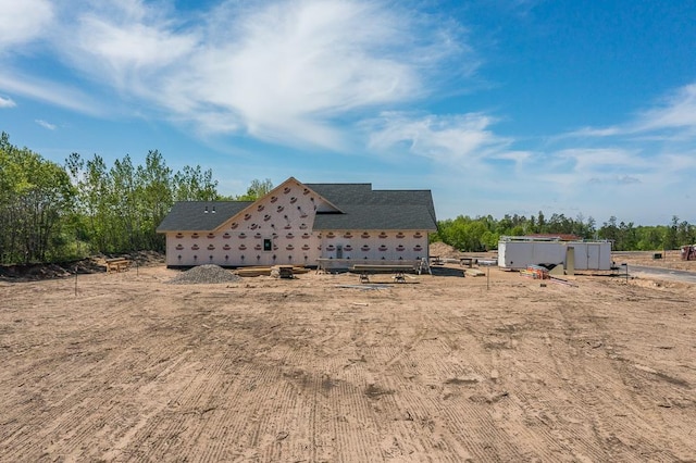
[[[40,37],[53,18],[48,0],[0,0],[0,52]]]

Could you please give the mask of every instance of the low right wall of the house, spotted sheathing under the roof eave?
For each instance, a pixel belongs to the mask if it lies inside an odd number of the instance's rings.
[[[319,235],[323,259],[413,261],[427,259],[427,232],[335,230]]]

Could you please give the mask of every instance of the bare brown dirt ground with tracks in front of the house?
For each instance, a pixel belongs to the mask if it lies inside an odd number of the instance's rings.
[[[695,461],[694,285],[482,271],[0,280],[0,461]]]

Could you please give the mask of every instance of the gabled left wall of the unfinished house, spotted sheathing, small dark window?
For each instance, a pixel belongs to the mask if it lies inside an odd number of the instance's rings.
[[[166,265],[315,265],[321,252],[312,230],[315,203],[311,190],[282,185],[211,234],[169,233]],[[263,248],[266,239],[270,250]]]

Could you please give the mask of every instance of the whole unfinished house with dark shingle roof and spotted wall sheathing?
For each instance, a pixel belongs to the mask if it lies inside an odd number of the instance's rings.
[[[436,229],[430,190],[290,177],[256,201],[177,202],[157,230],[166,236],[166,265],[188,267],[414,261],[428,258]]]

